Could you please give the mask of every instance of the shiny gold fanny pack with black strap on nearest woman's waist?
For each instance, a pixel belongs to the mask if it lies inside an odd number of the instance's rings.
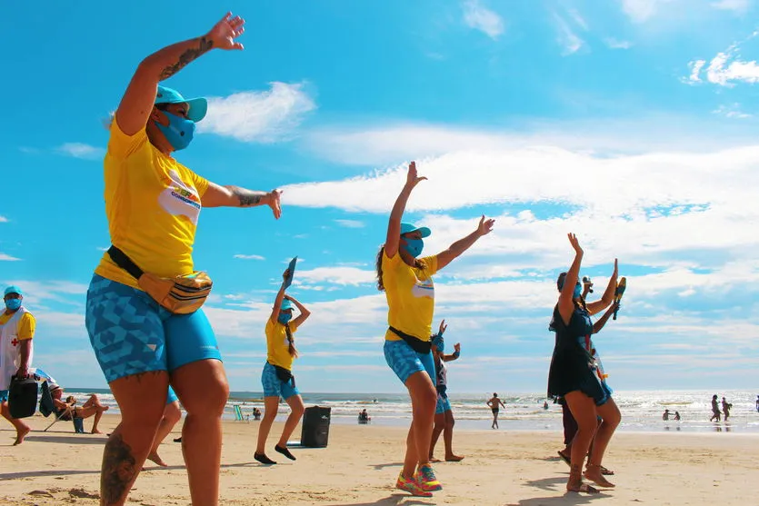
[[[145,293],[171,313],[195,313],[205,303],[214,285],[208,274],[203,271],[174,278],[162,278],[145,273],[126,256],[126,253],[113,245],[108,248],[108,255],[116,265],[134,276],[137,285],[145,290]]]

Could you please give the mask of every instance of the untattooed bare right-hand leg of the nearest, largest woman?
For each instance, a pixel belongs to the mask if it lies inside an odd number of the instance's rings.
[[[214,359],[190,362],[172,372],[171,384],[187,412],[182,428],[182,454],[192,503],[216,506],[222,458],[222,413],[229,399],[224,364]]]

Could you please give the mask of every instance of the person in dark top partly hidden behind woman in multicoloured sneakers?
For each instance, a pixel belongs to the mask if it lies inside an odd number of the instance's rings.
[[[454,352],[446,355],[443,332],[448,328],[445,320],[440,322],[440,327],[434,336],[432,336],[432,354],[434,359],[435,388],[437,389],[437,405],[434,410],[434,428],[432,433],[432,442],[430,443],[430,461],[439,462],[433,456],[434,445],[443,432],[443,442],[445,445],[445,461],[458,462],[463,461],[464,457],[456,455],[453,450],[454,443],[454,412],[451,410],[451,402],[448,401],[448,368],[445,362],[452,362],[461,355],[461,344],[454,344]]]

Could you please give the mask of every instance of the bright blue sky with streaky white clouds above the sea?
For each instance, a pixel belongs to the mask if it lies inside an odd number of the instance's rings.
[[[436,280],[435,325],[462,342],[453,392],[543,392],[556,274],[585,248],[598,292],[619,257],[624,307],[596,343],[616,389],[759,382],[759,35],[755,0],[6,5],[0,283],[26,290],[35,365],[105,386],[84,327],[108,245],[102,120],[135,65],[224,8],[243,52],[165,84],[210,98],[177,158],[218,184],[281,187],[284,213],[209,209],[195,264],[233,390],[260,390],[286,261],[312,310],[306,392],[401,392],[384,363],[374,259],[418,162],[407,219],[427,252],[494,233]],[[176,15],[168,15],[175,5]],[[34,12],[34,32],[29,14]]]

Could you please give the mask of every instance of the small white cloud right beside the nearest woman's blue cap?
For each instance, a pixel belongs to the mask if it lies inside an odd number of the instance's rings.
[[[275,143],[292,135],[305,114],[315,108],[305,84],[275,82],[265,92],[209,97],[208,115],[198,130],[243,142]]]

